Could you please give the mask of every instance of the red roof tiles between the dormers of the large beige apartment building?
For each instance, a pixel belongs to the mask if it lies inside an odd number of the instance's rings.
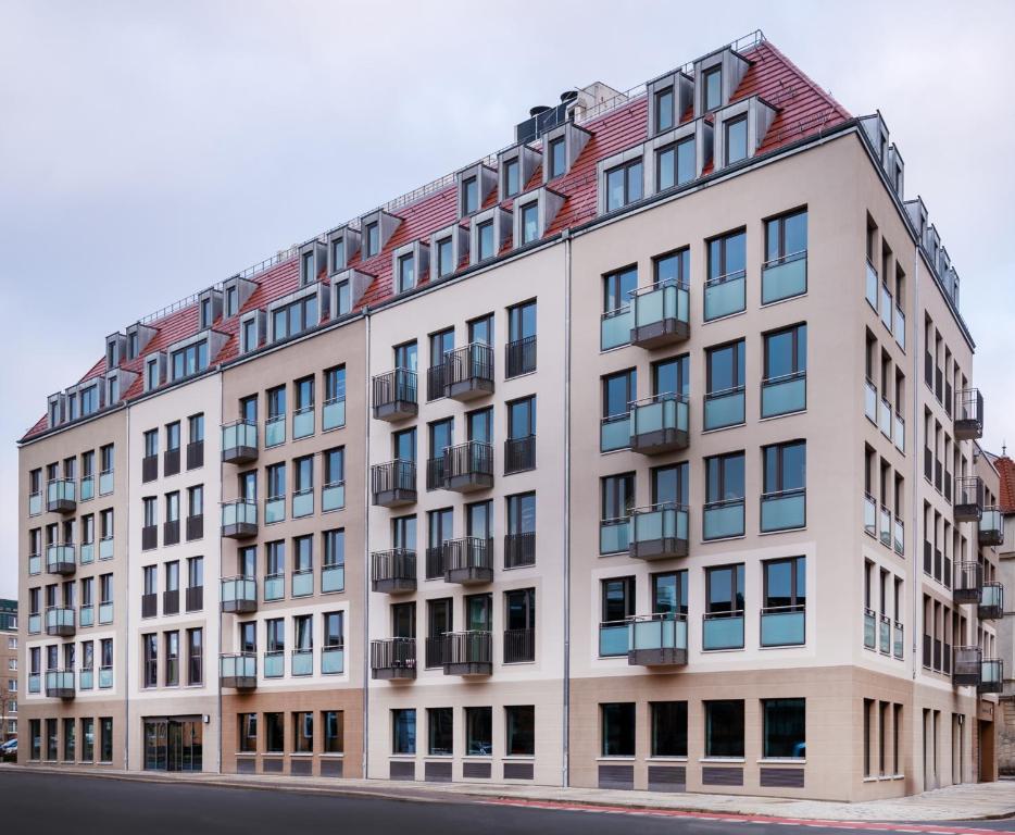
[[[817,87],[807,78],[788,58],[768,41],[762,41],[754,48],[741,52],[752,63],[740,86],[732,97],[732,101],[749,96],[761,96],[765,101],[778,110],[778,114],[768,128],[762,141],[759,153],[770,151],[784,145],[819,134],[822,130],[841,124],[850,119],[850,114],[830,95]],[[647,110],[646,96],[639,96],[626,104],[617,107],[601,116],[581,124],[581,127],[591,134],[581,154],[575,161],[571,171],[562,177],[554,179],[551,188],[563,195],[565,200],[556,217],[547,229],[553,235],[562,229],[579,226],[591,221],[597,213],[597,183],[596,166],[600,160],[612,157],[631,148],[647,138]],[[692,119],[692,112],[685,113],[681,123]],[[542,185],[542,169],[537,167],[527,184],[526,190]],[[484,209],[497,203],[497,192],[484,202]],[[511,201],[503,205],[510,207]],[[401,223],[396,229],[387,246],[377,256],[361,260],[353,258],[348,266],[374,276],[374,281],[358,303],[358,309],[375,307],[391,297],[392,270],[391,251],[413,240],[429,240],[429,236],[438,229],[451,226],[458,221],[458,199],[454,184],[448,185],[425,198],[400,208],[394,212]],[[511,241],[505,241],[501,252],[511,248]],[[421,284],[425,284],[428,276],[421,276]],[[258,289],[251,295],[241,312],[256,308],[265,308],[272,301],[292,292],[299,286],[298,260],[289,259],[255,276]],[[162,319],[148,323],[158,328],[158,333],[145,347],[143,354],[165,350],[174,342],[198,333],[198,306],[196,303],[176,310]],[[214,329],[227,334],[230,338],[214,358],[221,363],[237,356],[238,316],[227,321],[218,320]],[[138,373],[138,378],[124,394],[124,399],[130,400],[143,391],[143,357],[123,363],[123,367]],[[102,375],[105,361],[97,362],[82,382]],[[43,415],[25,434],[25,440],[45,432],[48,428],[47,416]],[[1015,473],[1013,473],[1015,478]],[[1002,479],[1002,501],[1005,496],[1004,481]],[[1008,503],[1015,507],[1015,484],[1008,484]]]

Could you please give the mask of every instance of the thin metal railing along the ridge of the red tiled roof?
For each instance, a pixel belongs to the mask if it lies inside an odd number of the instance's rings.
[[[752,47],[756,47],[757,45],[762,43],[764,40],[765,40],[765,34],[761,29],[754,29],[753,32],[747,35],[743,35],[742,37],[739,37],[736,40],[732,40],[729,43],[726,43],[725,46],[719,47],[719,49],[729,48],[729,49],[732,49],[734,51],[742,51],[742,50],[747,50]],[[714,50],[714,51],[718,51],[718,50]],[[689,61],[669,72],[671,73],[682,72],[682,73],[690,74],[693,71],[693,68],[694,68],[694,62]],[[669,73],[664,73],[663,75],[668,75],[668,74]],[[616,96],[613,96],[606,99],[605,101],[601,101],[598,104],[594,104],[590,108],[585,108],[581,110],[580,115],[575,116],[575,124],[588,124],[589,122],[592,122],[593,120],[599,119],[605,113],[609,113],[610,111],[615,110],[616,108],[619,108],[624,104],[627,104],[630,101],[639,98],[640,96],[643,96],[646,94],[646,90],[647,90],[646,83],[641,83],[639,85],[636,85],[635,87],[631,87],[629,90],[618,92]],[[802,127],[799,129],[800,129],[800,133],[803,133]],[[391,211],[394,211],[396,209],[403,209],[406,205],[411,205],[417,202],[418,200],[422,200],[425,197],[429,197],[435,191],[439,191],[440,189],[447,188],[448,186],[452,185],[454,183],[455,174],[459,171],[462,171],[463,169],[467,169],[467,167],[471,167],[472,165],[478,165],[478,164],[488,165],[490,167],[496,166],[497,159],[501,154],[501,152],[508,150],[509,148],[513,148],[515,145],[516,142],[511,142],[509,145],[505,145],[503,148],[501,148],[498,151],[494,151],[493,153],[489,153],[486,157],[481,157],[475,162],[469,163],[467,165],[463,165],[456,169],[456,171],[452,172],[451,174],[444,174],[443,176],[438,177],[437,179],[433,179],[423,186],[414,188],[412,191],[406,191],[404,195],[400,195],[399,197],[388,200],[386,203],[381,203],[377,208],[380,209],[381,211],[391,212]],[[539,142],[537,141],[535,142],[535,145],[538,146]],[[322,242],[327,242],[327,238],[330,233],[335,232],[336,229],[343,228],[346,226],[356,229],[360,227],[361,216],[363,215],[358,215],[356,217],[346,221],[344,223],[339,223],[336,226],[331,226],[326,232],[312,236],[311,238],[308,239],[306,242],[311,240],[319,240]],[[188,308],[191,304],[197,304],[198,299],[200,298],[201,294],[205,292],[209,289],[221,290],[227,281],[231,281],[233,278],[236,278],[236,277],[252,278],[253,276],[259,275],[260,273],[263,273],[273,266],[276,266],[280,263],[284,263],[295,258],[297,253],[299,252],[300,246],[302,245],[295,245],[295,246],[289,247],[288,249],[279,250],[271,258],[266,258],[256,264],[248,266],[246,270],[239,273],[234,273],[228,278],[222,282],[217,282],[216,284],[213,284],[209,287],[205,287],[204,289],[199,290],[198,292],[190,294],[189,296],[183,299],[179,299],[178,301],[175,301],[172,304],[168,304],[160,310],[156,310],[154,313],[150,313],[147,316],[139,319],[138,322],[140,324],[149,324],[150,322],[154,322],[159,319],[164,319],[165,316],[170,315],[171,313],[175,313],[178,310]]]

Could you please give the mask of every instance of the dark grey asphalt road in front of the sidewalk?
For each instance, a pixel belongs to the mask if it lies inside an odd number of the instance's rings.
[[[1013,821],[969,825],[979,830],[1015,831]],[[940,824],[938,827],[945,828]],[[33,835],[404,835],[408,832],[458,835],[469,831],[484,835],[629,835],[632,832],[638,835],[788,835],[786,825],[777,823],[653,819],[643,814],[522,809],[477,802],[322,797],[13,771],[0,773],[0,828]],[[872,833],[863,824],[856,828],[812,824],[807,828],[829,835]],[[888,835],[894,831],[880,832]]]

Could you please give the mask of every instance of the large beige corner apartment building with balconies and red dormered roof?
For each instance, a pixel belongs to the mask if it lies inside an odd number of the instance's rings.
[[[130,769],[993,778],[1004,493],[880,114],[755,34],[515,139],[110,336],[52,396],[21,445],[21,760],[82,761],[104,718],[86,761]],[[127,529],[79,561],[105,509]],[[116,614],[75,634],[93,574]]]

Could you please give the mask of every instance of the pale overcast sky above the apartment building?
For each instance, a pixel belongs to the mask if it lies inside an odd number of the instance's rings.
[[[505,146],[564,89],[755,28],[881,110],[962,277],[985,444],[1015,445],[1015,3],[0,0],[0,595],[14,441],[106,334]]]

